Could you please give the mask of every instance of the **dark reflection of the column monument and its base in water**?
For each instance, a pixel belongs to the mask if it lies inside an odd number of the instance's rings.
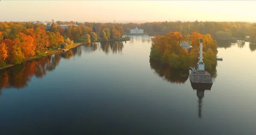
[[[191,81],[190,83],[192,88],[196,90],[196,95],[198,97],[198,118],[202,118],[204,91],[211,90],[212,83],[192,83]]]

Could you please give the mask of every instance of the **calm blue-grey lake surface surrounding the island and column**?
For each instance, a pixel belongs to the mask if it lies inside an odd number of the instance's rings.
[[[256,45],[218,42],[211,90],[195,90],[129,37],[1,70],[0,135],[256,134]]]

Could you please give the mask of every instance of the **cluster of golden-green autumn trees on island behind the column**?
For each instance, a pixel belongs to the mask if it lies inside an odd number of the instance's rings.
[[[205,69],[212,69],[216,64],[217,42],[210,34],[192,32],[183,36],[179,32],[169,32],[165,35],[155,35],[152,38],[150,59],[169,64],[175,69],[186,69],[195,66],[199,57],[200,38],[203,39]],[[186,51],[180,42],[189,42],[191,49]]]

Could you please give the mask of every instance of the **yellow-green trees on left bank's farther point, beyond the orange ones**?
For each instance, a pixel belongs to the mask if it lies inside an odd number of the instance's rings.
[[[124,31],[122,29],[122,24],[120,23],[78,23],[75,24],[78,26],[70,26],[68,29],[61,27],[62,24],[73,25],[74,22],[61,22],[57,21],[56,23],[49,24],[51,25],[51,32],[59,32],[64,38],[69,37],[75,42],[78,41],[81,37],[84,37],[85,43],[96,42],[98,37],[103,38],[108,41],[110,39],[117,39],[122,37]]]

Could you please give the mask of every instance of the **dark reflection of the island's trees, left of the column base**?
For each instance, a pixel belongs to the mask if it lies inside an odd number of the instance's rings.
[[[158,61],[150,60],[150,67],[155,73],[164,80],[171,83],[185,83],[189,78],[189,70],[174,69],[167,64],[161,64]]]

